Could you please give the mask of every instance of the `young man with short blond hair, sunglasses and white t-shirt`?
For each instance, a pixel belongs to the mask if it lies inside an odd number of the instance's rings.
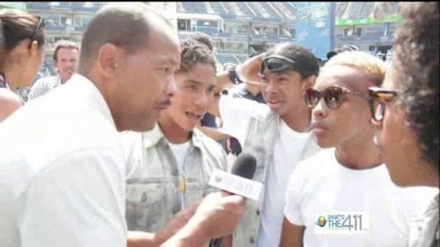
[[[367,88],[380,86],[385,70],[374,56],[345,52],[306,91],[312,133],[327,149],[292,175],[282,246],[406,246],[415,191],[393,184],[373,143],[369,109]]]

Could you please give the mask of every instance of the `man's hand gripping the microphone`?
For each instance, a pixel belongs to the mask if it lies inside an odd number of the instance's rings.
[[[200,203],[188,225],[201,231],[206,239],[219,238],[235,231],[245,211],[244,198],[227,192],[211,193]]]

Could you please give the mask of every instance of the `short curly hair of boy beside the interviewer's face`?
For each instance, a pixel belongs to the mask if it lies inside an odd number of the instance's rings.
[[[180,41],[180,68],[176,72],[188,72],[198,63],[212,65],[217,72],[215,56],[208,46],[195,40]]]

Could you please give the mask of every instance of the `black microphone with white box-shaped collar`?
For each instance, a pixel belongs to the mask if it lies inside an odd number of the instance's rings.
[[[256,170],[256,159],[253,155],[240,154],[231,169],[231,173],[216,170],[209,184],[232,194],[257,200],[263,184],[252,181]],[[209,247],[221,247],[223,238],[212,239]]]

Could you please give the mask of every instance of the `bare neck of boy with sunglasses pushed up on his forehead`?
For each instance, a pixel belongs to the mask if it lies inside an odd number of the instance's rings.
[[[284,115],[279,116],[289,128],[298,133],[309,132],[311,111],[310,109],[301,104],[298,108],[292,109]]]

